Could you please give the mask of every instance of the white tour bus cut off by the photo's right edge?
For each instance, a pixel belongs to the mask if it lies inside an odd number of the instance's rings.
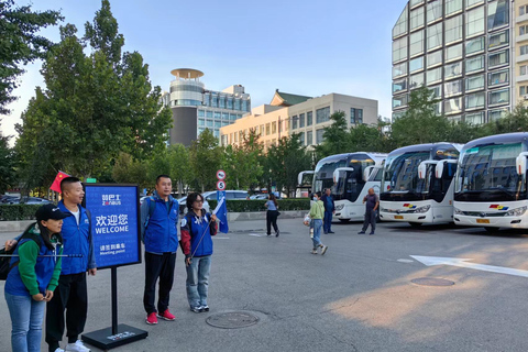
[[[526,167],[528,133],[506,133],[469,142],[455,176],[454,223],[528,228]]]

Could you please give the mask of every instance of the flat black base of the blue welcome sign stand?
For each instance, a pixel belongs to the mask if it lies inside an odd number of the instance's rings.
[[[118,333],[112,333],[112,328],[106,328],[81,336],[84,342],[101,350],[110,350],[117,346],[146,339],[148,332],[130,327],[124,323],[118,326]]]

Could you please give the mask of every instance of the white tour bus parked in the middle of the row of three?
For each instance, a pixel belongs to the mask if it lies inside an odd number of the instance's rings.
[[[380,219],[424,223],[453,222],[457,161],[462,144],[429,143],[404,146],[385,161]]]

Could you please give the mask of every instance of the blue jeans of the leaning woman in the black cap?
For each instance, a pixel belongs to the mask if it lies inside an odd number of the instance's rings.
[[[15,296],[8,293],[6,293],[6,301],[11,316],[13,352],[40,352],[46,302],[36,301],[31,296]]]

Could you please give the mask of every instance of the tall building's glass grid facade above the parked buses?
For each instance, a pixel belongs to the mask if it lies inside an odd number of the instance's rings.
[[[510,111],[516,2],[409,0],[393,28],[393,119],[422,86],[441,100],[437,112],[454,121],[485,123]]]

